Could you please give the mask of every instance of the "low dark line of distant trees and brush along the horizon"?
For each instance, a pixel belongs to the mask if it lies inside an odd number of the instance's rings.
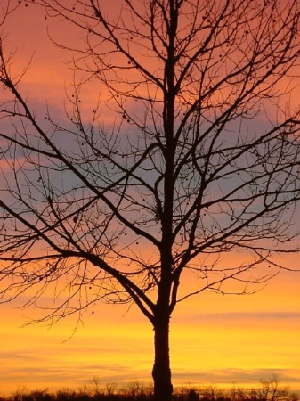
[[[127,387],[117,384],[101,386],[97,379],[83,388],[61,389],[55,393],[48,389],[17,389],[11,396],[0,397],[0,401],[150,401],[153,389],[140,381],[134,381]],[[174,401],[300,401],[300,396],[288,387],[280,386],[276,379],[261,381],[257,388],[230,390],[209,387],[176,387]]]

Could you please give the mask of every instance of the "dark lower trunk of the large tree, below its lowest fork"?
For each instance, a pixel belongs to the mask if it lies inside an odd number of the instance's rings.
[[[171,381],[169,355],[169,316],[154,323],[154,400],[171,401],[173,386]]]

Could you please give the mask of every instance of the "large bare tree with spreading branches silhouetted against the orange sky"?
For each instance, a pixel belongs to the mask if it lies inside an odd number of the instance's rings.
[[[300,6],[124,0],[116,14],[100,0],[29,3],[86,41],[59,44],[81,74],[64,122],[29,107],[1,50],[2,299],[34,288],[38,304],[50,289],[53,321],[99,301],[135,304],[154,330],[154,397],[170,400],[176,304],[251,291],[290,268],[274,256],[298,250],[300,116],[287,99]],[[91,82],[114,123],[100,106],[84,112]],[[198,280],[180,287],[189,274]]]

